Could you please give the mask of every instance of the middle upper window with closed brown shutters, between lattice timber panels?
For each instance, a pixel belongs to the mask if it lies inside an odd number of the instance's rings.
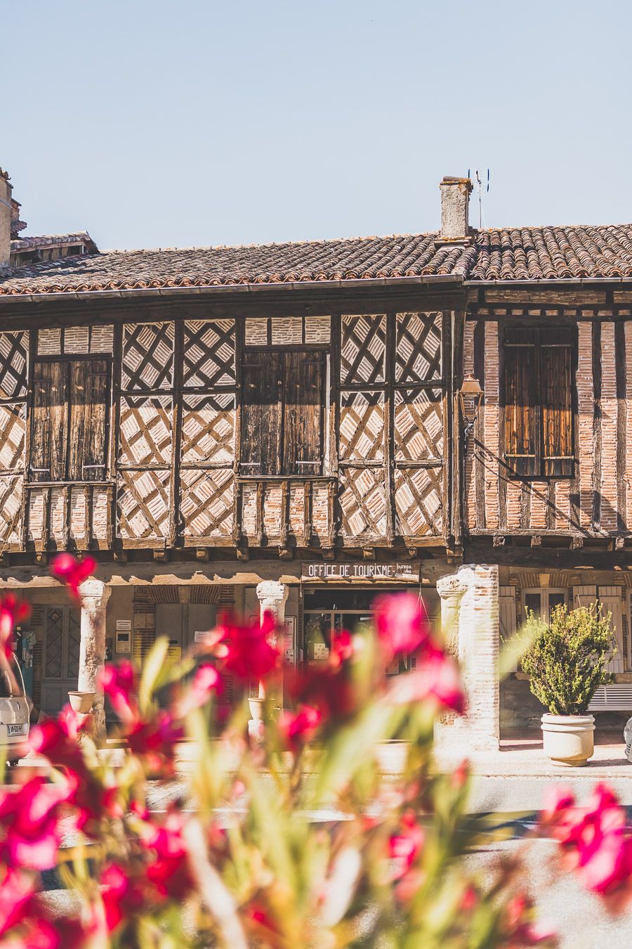
[[[246,353],[242,474],[322,474],[324,366],[314,351]]]

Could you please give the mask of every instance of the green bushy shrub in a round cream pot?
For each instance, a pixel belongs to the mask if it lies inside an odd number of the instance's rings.
[[[542,716],[542,735],[554,764],[579,767],[594,752],[595,719],[588,705],[595,690],[613,679],[606,671],[616,652],[610,619],[597,604],[571,611],[556,606],[548,625],[528,615],[530,645],[521,664],[533,695],[549,710]]]

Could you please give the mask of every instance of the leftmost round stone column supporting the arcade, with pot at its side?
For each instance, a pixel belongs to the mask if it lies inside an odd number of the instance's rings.
[[[92,734],[98,745],[105,744],[105,710],[99,689],[99,672],[105,662],[105,605],[110,588],[100,580],[86,580],[79,588],[81,595],[81,646],[79,654],[80,692],[96,693],[92,706]]]

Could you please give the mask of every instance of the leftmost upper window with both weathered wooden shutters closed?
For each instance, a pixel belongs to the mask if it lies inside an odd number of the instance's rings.
[[[105,477],[108,368],[104,359],[35,363],[32,481],[100,481]]]

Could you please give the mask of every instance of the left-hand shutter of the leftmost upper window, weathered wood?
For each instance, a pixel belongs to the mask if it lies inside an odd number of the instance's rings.
[[[66,379],[66,363],[35,363],[30,440],[30,476],[33,481],[65,480]]]

